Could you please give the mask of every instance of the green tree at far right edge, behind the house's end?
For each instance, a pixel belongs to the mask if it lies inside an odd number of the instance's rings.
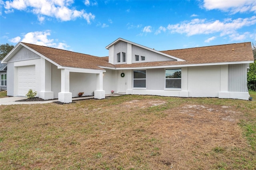
[[[256,43],[252,43],[252,53],[254,63],[250,63],[250,69],[247,73],[247,87],[248,89],[256,91]]]

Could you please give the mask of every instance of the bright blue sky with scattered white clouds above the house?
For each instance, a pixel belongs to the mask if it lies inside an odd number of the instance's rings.
[[[256,0],[0,0],[0,43],[108,56],[118,38],[156,50],[256,41]]]

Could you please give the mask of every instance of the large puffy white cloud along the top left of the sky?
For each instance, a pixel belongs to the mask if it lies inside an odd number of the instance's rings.
[[[33,12],[42,22],[45,16],[56,18],[60,21],[70,21],[76,18],[84,18],[88,24],[94,20],[95,16],[84,10],[70,8],[73,0],[13,0],[6,1],[4,4],[5,13],[14,12],[14,10],[25,10]],[[92,3],[95,4],[95,3]]]

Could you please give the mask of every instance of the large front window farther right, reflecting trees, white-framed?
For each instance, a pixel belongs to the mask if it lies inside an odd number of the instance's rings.
[[[165,70],[165,88],[181,88],[181,69]]]

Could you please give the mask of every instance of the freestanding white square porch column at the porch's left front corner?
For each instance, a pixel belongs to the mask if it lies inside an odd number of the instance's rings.
[[[63,103],[72,103],[72,93],[69,92],[69,70],[61,69],[61,92],[58,100]]]

